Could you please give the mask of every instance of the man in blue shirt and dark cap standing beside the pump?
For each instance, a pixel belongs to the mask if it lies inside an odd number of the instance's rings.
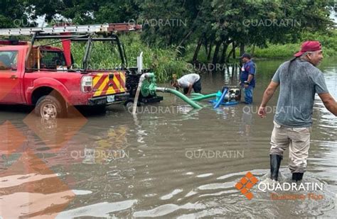
[[[240,74],[240,85],[245,93],[245,103],[252,103],[252,91],[255,88],[255,69],[256,65],[248,53],[243,53],[240,57],[243,62]]]

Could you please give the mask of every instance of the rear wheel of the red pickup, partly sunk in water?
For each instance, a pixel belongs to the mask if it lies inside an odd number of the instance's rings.
[[[55,96],[41,96],[35,107],[35,113],[41,118],[60,118],[66,116],[65,106]]]

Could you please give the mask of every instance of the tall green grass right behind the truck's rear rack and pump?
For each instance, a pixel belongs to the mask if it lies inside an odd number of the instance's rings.
[[[172,74],[181,76],[188,72],[188,64],[183,58],[178,57],[173,47],[161,49],[159,47],[149,47],[141,42],[137,33],[121,35],[120,41],[124,44],[127,56],[128,67],[137,66],[137,56],[143,52],[143,67],[151,69],[156,74],[158,82],[167,82]],[[85,44],[73,43],[72,54],[75,63],[80,66],[85,53]],[[121,67],[122,62],[116,45],[107,42],[94,42],[90,57],[89,66],[92,69],[109,69]]]

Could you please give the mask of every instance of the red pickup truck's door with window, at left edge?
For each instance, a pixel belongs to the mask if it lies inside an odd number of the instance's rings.
[[[22,66],[19,51],[2,47],[0,50],[0,103],[23,103],[21,96]]]

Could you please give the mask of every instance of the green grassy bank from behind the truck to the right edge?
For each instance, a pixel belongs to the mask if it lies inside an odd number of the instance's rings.
[[[180,77],[189,72],[198,72],[192,68],[191,60],[196,45],[187,45],[185,53],[181,54],[176,47],[160,48],[156,46],[149,46],[146,42],[141,40],[141,36],[137,33],[120,36],[121,42],[124,44],[129,67],[137,66],[137,56],[143,52],[144,68],[151,69],[156,74],[157,82],[168,82],[172,74],[177,74]],[[287,43],[284,45],[269,44],[267,47],[253,47],[247,46],[246,52],[252,53],[256,60],[277,60],[287,59],[299,51],[301,42],[306,40],[319,40],[323,45],[323,53],[325,57],[334,57],[337,54],[337,30],[331,30],[325,35],[319,33],[302,33],[301,40],[298,43]],[[230,50],[230,48],[228,49]],[[101,47],[101,57],[108,55],[108,62],[102,62],[98,58],[95,62],[97,65],[107,66],[109,64],[118,63],[119,58],[109,55],[107,47]],[[82,52],[75,52],[82,54]],[[239,50],[235,52],[236,57],[239,57]],[[75,55],[78,56],[78,55]],[[200,49],[198,55],[198,63],[208,64],[207,54],[204,48]],[[230,59],[229,63],[238,63],[238,60]],[[218,63],[220,64],[220,63]]]

